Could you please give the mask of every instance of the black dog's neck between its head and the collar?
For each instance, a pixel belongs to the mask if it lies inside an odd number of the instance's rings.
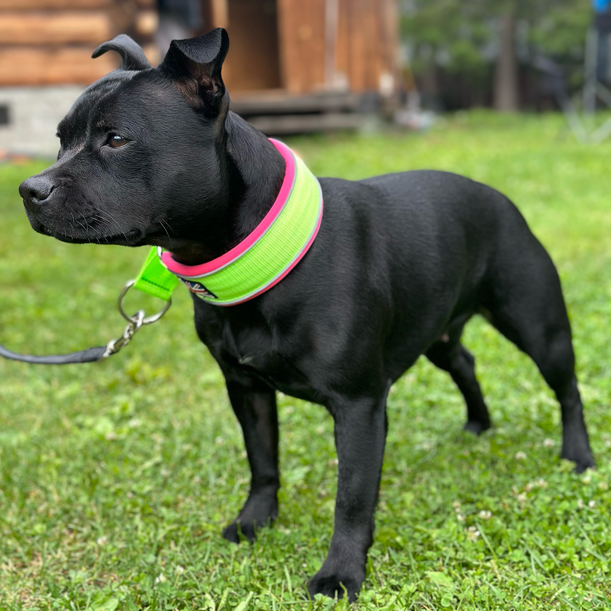
[[[199,265],[219,257],[254,231],[272,207],[285,173],[285,162],[260,131],[229,112],[220,148],[222,198],[227,202],[214,238],[183,243],[174,258]]]

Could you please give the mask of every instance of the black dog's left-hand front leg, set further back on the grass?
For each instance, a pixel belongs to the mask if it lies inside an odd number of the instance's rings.
[[[253,541],[258,527],[278,514],[278,416],[276,392],[258,378],[227,376],[227,390],[246,443],[251,465],[251,490],[238,517],[223,530],[229,541],[240,542],[238,531]]]

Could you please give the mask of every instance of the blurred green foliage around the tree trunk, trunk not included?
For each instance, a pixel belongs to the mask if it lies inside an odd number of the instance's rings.
[[[403,0],[400,8],[406,64],[425,106],[498,106],[495,71],[503,51],[514,56],[520,108],[554,106],[538,86],[537,57],[563,68],[569,91],[583,86],[590,0]],[[512,34],[507,49],[503,21]]]

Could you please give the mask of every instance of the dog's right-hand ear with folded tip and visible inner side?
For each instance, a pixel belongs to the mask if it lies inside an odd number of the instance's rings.
[[[227,106],[221,67],[228,50],[229,36],[217,27],[196,38],[172,40],[159,68],[177,84],[189,106],[216,116]]]

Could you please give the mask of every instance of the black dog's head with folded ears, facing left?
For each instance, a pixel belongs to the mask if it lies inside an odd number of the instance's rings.
[[[221,224],[228,48],[219,28],[174,40],[152,68],[126,35],[100,45],[93,57],[117,51],[122,64],[59,123],[57,162],[21,184],[32,227],[72,243],[172,248],[201,234],[207,206],[206,222]]]

